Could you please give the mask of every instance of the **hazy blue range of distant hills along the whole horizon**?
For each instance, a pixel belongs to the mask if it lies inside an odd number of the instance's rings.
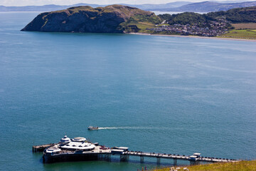
[[[228,9],[256,6],[256,1],[234,2],[234,1],[203,1],[192,3],[190,1],[175,1],[167,4],[120,4],[132,6],[146,11],[188,11],[188,12],[213,12],[227,11]],[[92,6],[93,8],[107,5],[98,4],[73,4],[68,6],[44,5],[44,6],[0,6],[0,11],[57,11],[68,9],[72,6]]]

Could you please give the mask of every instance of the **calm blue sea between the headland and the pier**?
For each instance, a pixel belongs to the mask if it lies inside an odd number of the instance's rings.
[[[154,158],[118,156],[43,164],[32,152],[64,135],[134,151],[256,159],[255,41],[20,31],[37,15],[0,13],[0,170],[157,167]]]

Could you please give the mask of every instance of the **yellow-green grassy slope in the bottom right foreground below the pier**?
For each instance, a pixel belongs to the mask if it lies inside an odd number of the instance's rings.
[[[256,160],[241,162],[214,163],[208,165],[186,166],[189,171],[256,171]],[[179,169],[183,171],[184,167]],[[156,169],[154,171],[169,171],[170,167]]]

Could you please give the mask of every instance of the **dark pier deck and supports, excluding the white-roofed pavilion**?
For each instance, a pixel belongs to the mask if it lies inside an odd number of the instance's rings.
[[[50,149],[56,144],[47,145],[35,145],[33,146],[33,152],[42,152],[45,149]],[[92,151],[81,150],[63,150],[58,153],[52,153],[50,157],[53,160],[47,161],[43,156],[43,162],[65,162],[65,161],[85,161],[85,160],[105,160],[111,161],[113,156],[119,156],[120,162],[128,162],[130,156],[138,157],[140,162],[144,162],[146,157],[156,158],[157,165],[161,164],[161,159],[170,159],[173,161],[173,165],[178,165],[178,160],[187,160],[191,165],[198,165],[200,162],[238,162],[240,160],[218,158],[218,157],[202,157],[200,153],[194,153],[193,155],[175,155],[166,153],[155,152],[138,152],[129,150],[116,150],[110,149],[105,146],[97,146]]]

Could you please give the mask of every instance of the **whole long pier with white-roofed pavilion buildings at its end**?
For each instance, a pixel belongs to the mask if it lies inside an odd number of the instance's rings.
[[[66,135],[60,139],[60,142],[47,145],[33,146],[33,152],[43,151],[43,162],[68,162],[68,161],[86,161],[86,160],[106,160],[111,161],[112,155],[118,155],[120,161],[126,162],[129,156],[139,157],[140,162],[144,162],[144,157],[156,158],[159,165],[161,158],[173,160],[173,165],[177,165],[178,160],[187,160],[191,165],[200,162],[238,162],[240,160],[203,157],[196,152],[193,155],[175,155],[156,152],[129,151],[128,147],[105,147],[98,142],[88,142],[85,138],[70,139]]]

